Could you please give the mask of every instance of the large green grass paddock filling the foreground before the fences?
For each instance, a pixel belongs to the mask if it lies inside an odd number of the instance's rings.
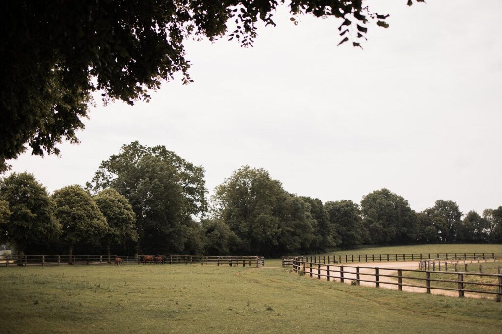
[[[0,332],[500,333],[502,303],[214,265],[0,268]]]

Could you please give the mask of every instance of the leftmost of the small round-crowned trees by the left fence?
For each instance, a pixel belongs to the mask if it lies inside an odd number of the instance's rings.
[[[12,173],[2,179],[0,202],[3,203],[0,236],[16,245],[20,261],[22,253],[31,246],[61,233],[61,225],[54,216],[54,203],[33,174]]]

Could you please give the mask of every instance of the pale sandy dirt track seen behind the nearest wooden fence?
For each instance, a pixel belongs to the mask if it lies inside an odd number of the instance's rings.
[[[351,264],[353,266],[357,266],[357,263]],[[386,277],[382,275],[397,275],[396,270],[389,270],[389,269],[417,269],[418,270],[418,263],[417,262],[364,262],[361,263],[361,267],[370,267],[368,268],[360,268],[359,269],[359,279],[361,280],[368,280],[368,281],[374,281],[375,277],[374,275],[368,275],[368,273],[374,274],[374,269],[372,268],[379,268],[380,269],[380,287],[385,288],[385,289],[392,289],[392,290],[397,290],[398,285],[397,285],[397,278],[393,277]],[[300,270],[303,271],[303,266],[300,268]],[[340,267],[338,264],[330,264],[330,271],[331,271],[331,276],[340,276],[339,272],[333,272],[332,270],[340,270]],[[319,270],[317,268],[312,268],[312,277],[317,278]],[[321,265],[320,269],[320,274],[321,275],[327,275],[327,265]],[[306,267],[306,275],[310,275],[310,267]],[[406,276],[406,273],[403,273],[404,276]],[[321,279],[327,279],[326,276],[321,276]],[[346,267],[343,266],[343,281],[344,283],[351,284],[351,280],[356,279],[356,268],[351,268],[351,267]],[[340,281],[339,278],[333,278],[331,277],[331,280],[334,281]],[[417,283],[418,281],[414,281],[411,284],[416,284],[420,285],[420,283]],[[394,284],[390,284],[394,283]],[[406,283],[403,281],[403,283]],[[423,283],[423,281],[422,281]],[[365,286],[375,286],[374,282],[364,282],[361,281],[360,285],[365,285]],[[403,286],[402,287],[403,291],[407,292],[419,292],[419,293],[425,293],[426,288],[425,287],[414,287],[414,286]],[[449,290],[438,290],[434,289],[431,287],[431,293],[432,294],[440,294],[440,295],[446,295],[446,296],[455,296],[458,297],[458,292],[457,291],[449,291]],[[478,294],[472,294],[472,293],[465,293],[464,294],[466,297],[472,297],[472,298],[482,298],[482,296]]]

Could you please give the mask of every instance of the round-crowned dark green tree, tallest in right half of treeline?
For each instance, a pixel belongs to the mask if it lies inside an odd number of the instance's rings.
[[[371,242],[411,243],[417,240],[417,218],[408,201],[388,189],[375,190],[361,200],[363,222]]]

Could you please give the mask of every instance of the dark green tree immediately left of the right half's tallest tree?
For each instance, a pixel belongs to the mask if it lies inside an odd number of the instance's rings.
[[[350,200],[326,202],[324,208],[339,238],[338,246],[351,248],[369,239],[364,227],[359,205]]]

